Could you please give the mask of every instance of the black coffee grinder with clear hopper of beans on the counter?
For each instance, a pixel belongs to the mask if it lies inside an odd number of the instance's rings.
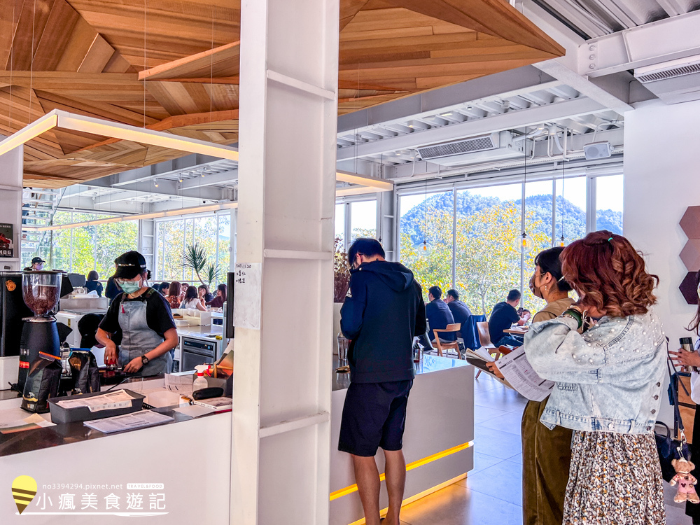
[[[56,318],[50,315],[61,295],[62,272],[22,272],[22,297],[34,312],[34,317],[24,318],[20,339],[20,373],[18,387],[23,389],[27,381],[29,366],[39,352],[50,356],[61,356]]]

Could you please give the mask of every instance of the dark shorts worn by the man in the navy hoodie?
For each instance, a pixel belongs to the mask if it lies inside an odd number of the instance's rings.
[[[374,456],[377,448],[400,450],[408,393],[413,381],[351,383],[345,396],[338,450]]]

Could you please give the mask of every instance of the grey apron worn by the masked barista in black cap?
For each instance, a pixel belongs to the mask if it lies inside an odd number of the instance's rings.
[[[144,294],[144,298],[151,295]],[[146,322],[146,301],[124,301],[119,305],[119,326],[122,329],[122,342],[119,345],[119,366],[124,367],[132,359],[141,357],[161,344],[163,339]],[[132,375],[148,377],[165,374],[172,368],[170,352],[153,358],[148,365]]]

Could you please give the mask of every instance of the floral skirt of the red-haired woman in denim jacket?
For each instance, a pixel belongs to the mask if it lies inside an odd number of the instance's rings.
[[[563,525],[665,525],[652,434],[575,431]]]

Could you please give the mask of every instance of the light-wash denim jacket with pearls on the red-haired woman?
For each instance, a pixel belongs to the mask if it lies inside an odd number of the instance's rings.
[[[661,404],[667,353],[659,318],[605,316],[584,334],[558,317],[534,323],[524,349],[535,372],[556,381],[540,421],[587,432],[650,433]]]

